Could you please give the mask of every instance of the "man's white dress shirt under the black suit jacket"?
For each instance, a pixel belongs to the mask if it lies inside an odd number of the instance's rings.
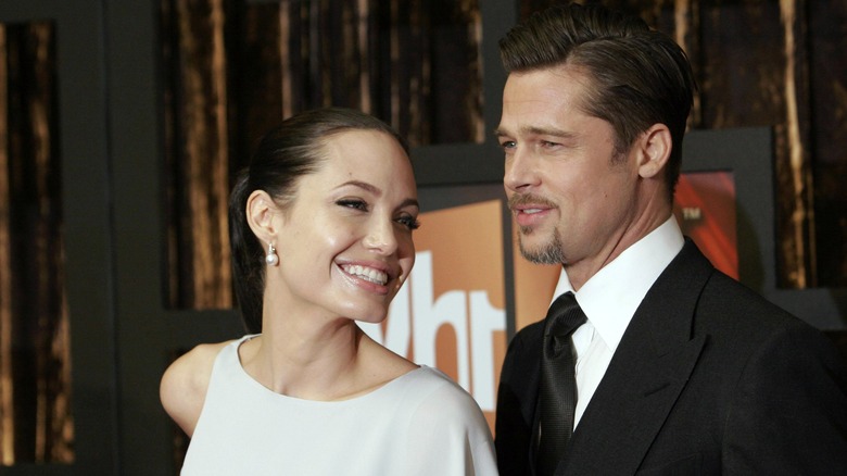
[[[576,428],[609,367],[635,310],[647,291],[682,250],[685,240],[677,220],[668,221],[625,249],[574,292],[587,322],[573,333],[577,353]],[[553,300],[573,291],[562,270]]]

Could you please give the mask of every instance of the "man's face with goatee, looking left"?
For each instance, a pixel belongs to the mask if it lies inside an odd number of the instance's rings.
[[[611,124],[579,108],[586,84],[569,66],[510,74],[497,136],[522,254],[590,277],[635,221],[639,171]]]

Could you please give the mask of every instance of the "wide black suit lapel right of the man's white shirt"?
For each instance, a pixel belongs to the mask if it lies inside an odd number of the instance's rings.
[[[686,240],[635,311],[556,474],[637,471],[706,342],[692,321],[712,272]]]

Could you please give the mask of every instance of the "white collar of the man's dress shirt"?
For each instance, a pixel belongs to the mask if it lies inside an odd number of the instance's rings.
[[[663,224],[612,260],[576,292],[577,301],[599,337],[615,351],[644,296],[682,250],[685,239],[671,215]],[[565,270],[556,291],[573,291]]]

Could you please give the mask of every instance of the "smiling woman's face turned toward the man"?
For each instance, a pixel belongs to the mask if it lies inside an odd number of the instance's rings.
[[[380,322],[415,263],[412,164],[393,137],[376,130],[330,136],[324,152],[327,160],[299,180],[280,212],[279,265],[267,268],[265,299],[279,300],[273,309],[286,313]]]

